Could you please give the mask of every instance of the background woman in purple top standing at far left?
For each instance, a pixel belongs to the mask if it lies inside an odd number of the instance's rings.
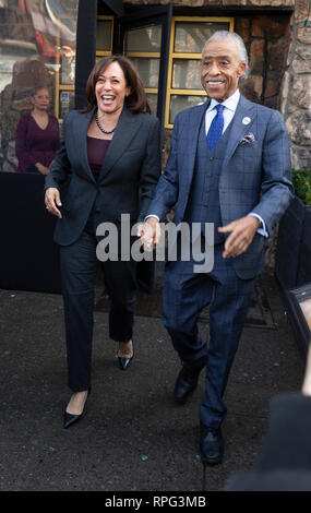
[[[35,87],[32,96],[33,110],[22,116],[15,135],[17,171],[47,175],[60,148],[59,123],[48,112],[50,92]]]

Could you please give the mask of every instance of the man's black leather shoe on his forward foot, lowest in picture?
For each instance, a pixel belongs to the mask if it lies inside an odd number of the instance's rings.
[[[208,428],[201,423],[201,460],[203,464],[216,465],[224,456],[224,439],[220,428]]]

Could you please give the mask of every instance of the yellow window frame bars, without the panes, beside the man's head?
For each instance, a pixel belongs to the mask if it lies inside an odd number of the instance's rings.
[[[176,23],[189,22],[189,23],[206,23],[206,22],[227,22],[229,23],[229,32],[234,32],[235,19],[228,16],[172,16],[170,27],[170,41],[169,41],[169,61],[168,61],[168,75],[167,75],[167,90],[166,90],[166,108],[165,108],[165,129],[172,129],[174,123],[169,121],[170,118],[170,98],[172,95],[184,95],[184,96],[202,96],[204,90],[181,90],[172,87],[172,69],[175,59],[187,59],[187,60],[202,60],[201,53],[182,53],[175,52],[175,35],[176,35]]]

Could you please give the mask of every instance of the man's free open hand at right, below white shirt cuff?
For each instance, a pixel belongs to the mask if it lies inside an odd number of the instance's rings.
[[[260,225],[260,220],[256,217],[250,215],[241,217],[240,219],[229,223],[227,226],[218,228],[220,234],[230,232],[225,242],[225,251],[223,252],[224,259],[238,256],[239,254],[242,254],[244,251],[247,251]]]

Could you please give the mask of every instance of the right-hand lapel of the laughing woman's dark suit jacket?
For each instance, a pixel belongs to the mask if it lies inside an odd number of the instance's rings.
[[[124,153],[133,136],[141,128],[141,123],[142,118],[139,118],[137,115],[132,114],[125,108],[122,110],[113,138],[111,139],[111,143],[101,165],[98,181],[103,180],[118,158]]]

